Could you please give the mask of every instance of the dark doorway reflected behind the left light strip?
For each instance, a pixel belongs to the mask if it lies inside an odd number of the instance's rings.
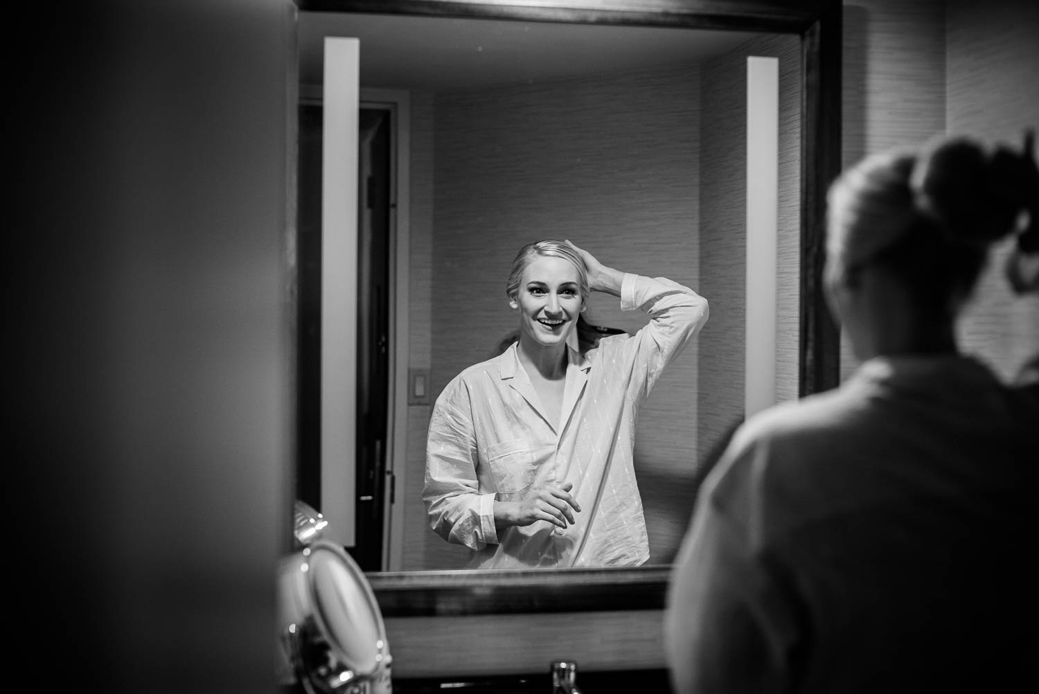
[[[395,118],[391,105],[358,113],[356,439],[354,543],[346,545],[366,571],[384,568],[390,507],[395,499],[389,461],[392,383]],[[321,191],[323,107],[299,106],[297,178],[298,450],[296,496],[321,508]]]

